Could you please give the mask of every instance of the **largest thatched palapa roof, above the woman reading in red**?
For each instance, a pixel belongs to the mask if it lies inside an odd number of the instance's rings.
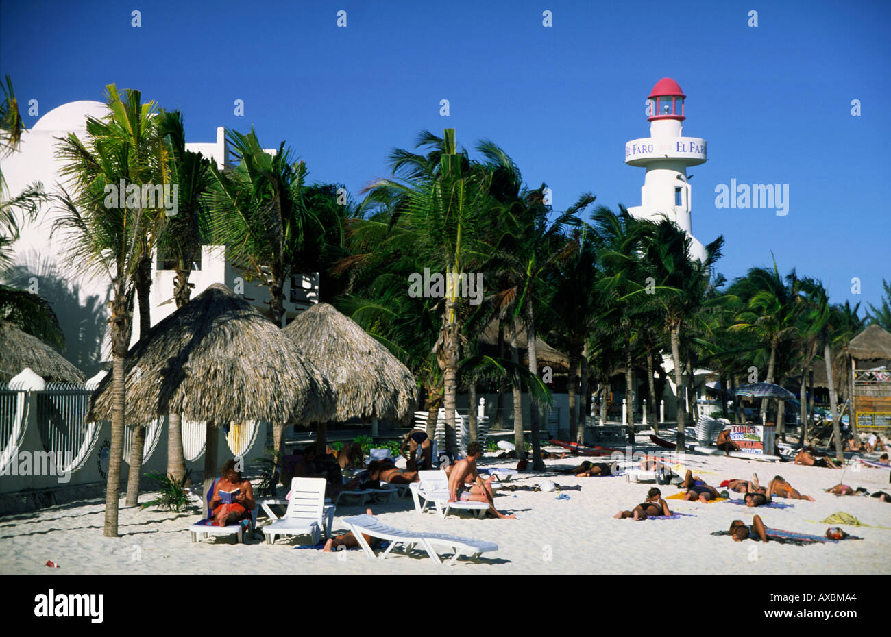
[[[217,425],[327,421],[331,386],[275,324],[225,285],[211,285],[151,328],[127,354],[129,423],[166,413]],[[109,419],[111,378],[86,420]]]

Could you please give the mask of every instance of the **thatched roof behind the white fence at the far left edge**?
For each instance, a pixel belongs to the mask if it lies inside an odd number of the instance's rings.
[[[84,375],[57,351],[12,323],[0,321],[0,380],[30,367],[48,382],[83,382]]]

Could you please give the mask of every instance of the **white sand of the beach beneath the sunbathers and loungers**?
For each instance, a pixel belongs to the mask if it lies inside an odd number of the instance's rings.
[[[876,454],[878,455],[878,454]],[[552,468],[568,468],[582,459],[545,461]],[[596,459],[593,459],[596,460]],[[274,545],[263,540],[238,544],[234,535],[192,544],[185,528],[196,513],[169,513],[157,510],[120,510],[119,538],[102,536],[103,502],[60,506],[0,519],[0,574],[432,574],[443,569],[464,575],[527,574],[721,574],[721,575],[806,575],[883,572],[891,543],[891,529],[850,527],[862,541],[845,541],[813,546],[776,543],[734,543],[727,536],[709,535],[730,526],[732,519],[751,523],[758,513],[768,527],[822,535],[827,524],[821,520],[837,511],[852,513],[864,524],[891,527],[891,503],[875,498],[826,494],[823,488],[838,483],[842,470],[797,467],[791,462],[772,464],[720,456],[688,455],[688,466],[709,484],[717,486],[727,478],[751,478],[756,471],[763,484],[779,473],[803,494],[816,502],[789,501],[791,509],[748,509],[730,502],[700,504],[668,500],[672,510],[695,517],[634,522],[613,519],[617,510],[630,510],[642,502],[651,483],[629,483],[624,477],[552,477],[563,486],[581,485],[581,491],[566,491],[569,500],[557,500],[555,493],[496,491],[495,504],[501,510],[517,513],[518,519],[476,519],[435,513],[423,515],[413,510],[411,496],[390,504],[372,504],[380,519],[394,527],[437,531],[476,537],[498,544],[477,562],[459,561],[454,567],[437,567],[426,557],[394,553],[386,560],[372,561],[361,551],[329,554],[295,550],[295,538],[280,539]],[[485,466],[511,467],[513,462],[491,459]],[[528,473],[509,484],[536,485],[543,478]],[[888,471],[848,467],[845,483],[863,486],[873,492],[891,492]],[[678,493],[676,486],[661,486],[663,495]],[[720,489],[719,489],[720,490]],[[140,496],[141,501],[150,498]],[[335,531],[346,530],[343,517],[364,512],[364,507],[339,506]],[[262,519],[261,519],[262,521]],[[61,568],[45,567],[52,559]]]

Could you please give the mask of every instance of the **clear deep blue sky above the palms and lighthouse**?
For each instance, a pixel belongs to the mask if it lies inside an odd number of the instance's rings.
[[[643,168],[625,166],[624,144],[649,135],[644,100],[671,77],[687,94],[684,134],[708,141],[689,171],[693,233],[724,235],[718,270],[732,279],[773,254],[781,274],[865,308],[891,280],[889,18],[884,0],[4,2],[0,72],[41,115],[115,82],[183,110],[190,142],[253,125],[356,196],[388,176],[392,148],[454,127],[468,148],[500,144],[558,209],[588,191],[640,203]],[[789,184],[789,214],[715,208],[731,179]]]

